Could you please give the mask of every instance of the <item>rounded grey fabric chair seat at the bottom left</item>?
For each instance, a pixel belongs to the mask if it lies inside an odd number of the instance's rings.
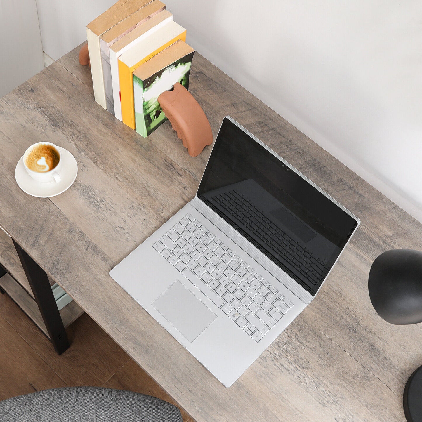
[[[182,422],[166,401],[131,391],[69,387],[0,401],[2,422]]]

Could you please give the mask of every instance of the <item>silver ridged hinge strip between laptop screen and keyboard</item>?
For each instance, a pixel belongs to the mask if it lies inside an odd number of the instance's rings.
[[[273,261],[265,256],[252,243],[244,238],[237,230],[231,227],[224,219],[222,219],[216,212],[214,212],[208,205],[195,196],[191,201],[191,205],[199,211],[206,219],[211,221],[216,227],[219,227],[222,232],[234,241],[241,249],[243,249],[249,256],[264,267],[273,277],[284,284],[293,294],[295,294],[303,303],[310,303],[314,298],[295,280],[293,280],[287,273],[279,268]]]

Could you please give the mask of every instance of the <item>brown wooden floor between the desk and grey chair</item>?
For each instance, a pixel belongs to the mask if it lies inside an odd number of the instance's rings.
[[[13,300],[0,294],[0,400],[47,388],[98,386],[177,405],[87,314],[66,331],[71,346],[58,356]],[[181,412],[184,422],[192,422]]]

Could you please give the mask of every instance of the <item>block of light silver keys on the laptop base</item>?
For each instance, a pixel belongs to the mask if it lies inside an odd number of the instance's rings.
[[[257,342],[293,306],[191,214],[152,247]]]

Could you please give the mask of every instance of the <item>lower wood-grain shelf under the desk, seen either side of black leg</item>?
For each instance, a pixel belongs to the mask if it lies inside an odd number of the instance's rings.
[[[17,283],[10,274],[5,274],[0,278],[0,287],[14,300],[14,302],[32,319],[40,330],[49,337],[43,318],[41,317],[37,303],[32,296]],[[74,300],[60,310],[63,325],[68,327],[73,321],[79,318],[84,311]]]

